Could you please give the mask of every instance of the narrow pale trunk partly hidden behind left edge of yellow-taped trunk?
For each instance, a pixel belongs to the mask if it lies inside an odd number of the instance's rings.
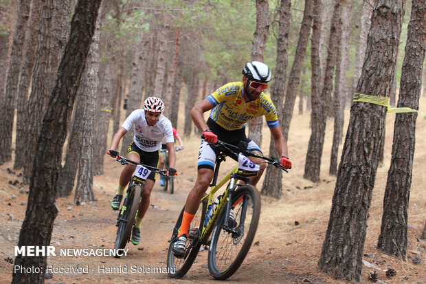
[[[361,75],[361,67],[364,62],[364,57],[366,56],[367,36],[368,36],[368,31],[370,30],[371,14],[372,14],[372,8],[374,7],[374,1],[375,0],[363,0],[363,3],[362,3],[361,30],[359,32],[357,60],[355,61],[355,69],[353,72],[352,90],[350,91],[350,94],[346,100],[346,102],[348,102],[348,105],[352,103],[352,97],[353,97],[353,94],[355,93],[355,89],[357,88],[359,76]]]

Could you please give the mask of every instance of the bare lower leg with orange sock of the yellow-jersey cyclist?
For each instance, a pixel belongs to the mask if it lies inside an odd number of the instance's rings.
[[[200,200],[205,193],[205,190],[210,185],[210,182],[213,179],[213,170],[210,168],[200,168],[197,172],[197,182],[195,182],[194,187],[190,191],[190,194],[186,198],[185,210],[182,218],[181,228],[179,229],[179,234],[177,237],[180,237],[182,234],[188,236],[188,230],[190,228],[190,223],[194,219],[194,215],[198,210],[200,205]],[[186,213],[186,214],[185,214]]]

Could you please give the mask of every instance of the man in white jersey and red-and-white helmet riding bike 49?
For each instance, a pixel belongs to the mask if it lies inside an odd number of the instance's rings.
[[[129,160],[146,164],[148,166],[158,167],[159,164],[159,150],[161,149],[161,141],[166,141],[166,146],[169,153],[168,172],[170,175],[176,173],[175,161],[176,152],[173,138],[172,124],[168,118],[163,116],[161,112],[164,111],[164,102],[157,97],[148,97],[144,101],[144,109],[136,109],[118,129],[111,142],[109,153],[111,157],[117,157],[119,153],[116,151],[120,140],[133,128],[133,141],[128,146],[126,157]],[[124,189],[130,181],[135,166],[126,165],[120,175],[120,182],[118,190],[111,201],[111,207],[114,210],[120,208],[123,199]],[[144,192],[142,193],[142,200],[139,204],[137,211],[136,224],[132,229],[131,242],[137,245],[140,242],[140,227],[142,218],[150,204],[150,194],[155,184],[155,172],[150,173],[146,179]]]

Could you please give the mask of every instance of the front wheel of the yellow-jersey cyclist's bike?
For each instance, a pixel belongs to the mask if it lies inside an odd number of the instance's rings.
[[[223,210],[213,230],[208,255],[210,275],[218,280],[232,276],[243,263],[258,228],[260,216],[260,194],[252,185],[238,188],[232,197],[237,225],[236,233],[223,230],[225,212]]]

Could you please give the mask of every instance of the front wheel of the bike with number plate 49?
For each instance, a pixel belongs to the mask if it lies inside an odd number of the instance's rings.
[[[142,195],[142,187],[138,185],[133,186],[133,190],[129,193],[127,197],[128,208],[123,213],[123,216],[120,217],[120,222],[117,229],[117,237],[115,238],[114,250],[123,249],[126,247],[127,242],[130,240],[133,223],[135,221],[137,208],[139,208],[139,199]],[[126,204],[126,201],[124,201]],[[124,206],[124,205],[123,205]],[[115,258],[120,258],[120,255],[115,254]]]

